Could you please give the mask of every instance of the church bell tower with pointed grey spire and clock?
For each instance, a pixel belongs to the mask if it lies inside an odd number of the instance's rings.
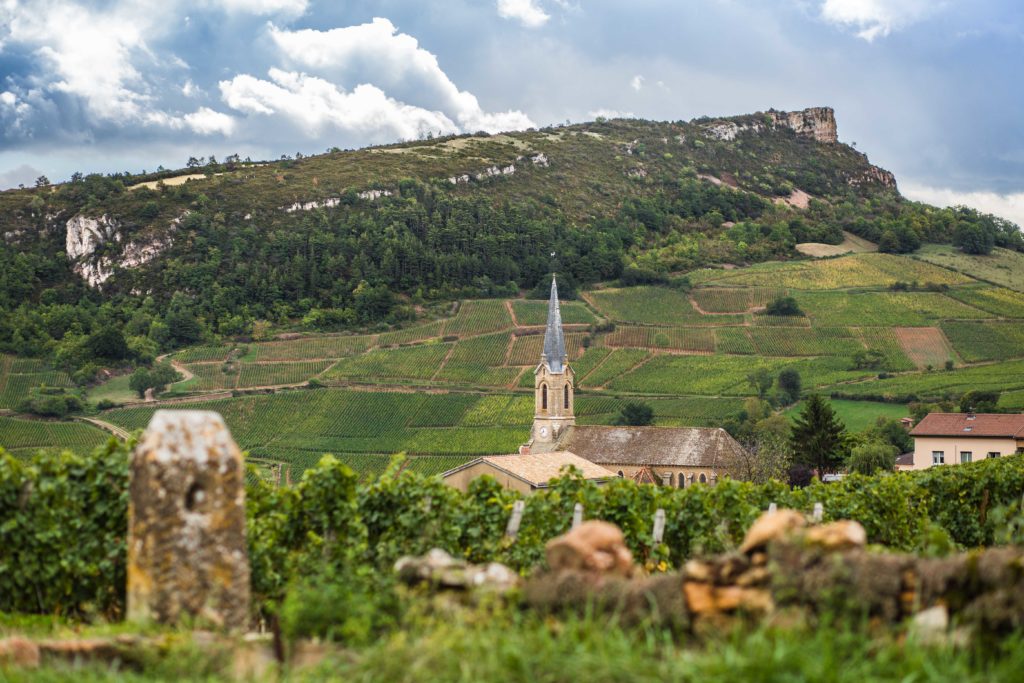
[[[544,351],[534,371],[532,443],[538,450],[558,440],[565,429],[575,424],[575,374],[569,368],[562,331],[562,311],[558,305],[558,284],[551,278],[548,301],[548,327],[544,331]]]

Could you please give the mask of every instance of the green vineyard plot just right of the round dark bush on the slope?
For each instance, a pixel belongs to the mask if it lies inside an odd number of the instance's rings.
[[[928,327],[942,319],[992,317],[937,292],[800,292],[796,299],[816,327]]]

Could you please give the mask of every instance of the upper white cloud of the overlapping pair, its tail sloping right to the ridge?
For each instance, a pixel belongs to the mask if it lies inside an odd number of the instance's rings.
[[[465,131],[498,132],[534,125],[522,112],[484,112],[472,93],[460,90],[452,82],[436,56],[420,47],[413,36],[398,33],[386,18],[330,31],[289,31],[271,26],[270,37],[292,66],[339,87],[358,90],[359,86],[373,85],[396,102],[409,102],[402,106],[413,117],[414,127],[424,121],[423,111],[442,113]],[[364,100],[346,101],[354,104]]]

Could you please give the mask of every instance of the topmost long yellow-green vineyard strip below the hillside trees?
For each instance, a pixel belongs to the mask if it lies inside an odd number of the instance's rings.
[[[836,290],[889,287],[897,282],[966,285],[970,278],[945,268],[908,261],[891,254],[854,254],[818,261],[761,263],[749,268],[701,271],[699,282],[730,286],[776,287],[795,290]],[[691,276],[690,282],[698,282]]]

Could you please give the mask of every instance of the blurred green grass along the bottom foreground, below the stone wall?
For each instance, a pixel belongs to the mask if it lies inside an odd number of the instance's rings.
[[[0,632],[10,634],[89,638],[128,632],[105,625],[53,626],[49,617],[3,620],[13,622],[0,623]],[[150,632],[160,633],[155,628]],[[203,646],[185,632],[162,633],[162,642],[169,645],[141,658],[136,668],[50,660],[35,671],[5,669],[3,677],[13,682],[231,678],[229,650]],[[495,601],[475,608],[431,610],[421,597],[404,603],[398,621],[383,633],[364,640],[329,642],[323,661],[291,671],[287,680],[1016,683],[1024,669],[1019,632],[988,645],[951,647],[922,642],[902,628],[822,620],[787,628],[739,624],[698,638],[649,624],[628,627],[614,616],[545,615]]]

